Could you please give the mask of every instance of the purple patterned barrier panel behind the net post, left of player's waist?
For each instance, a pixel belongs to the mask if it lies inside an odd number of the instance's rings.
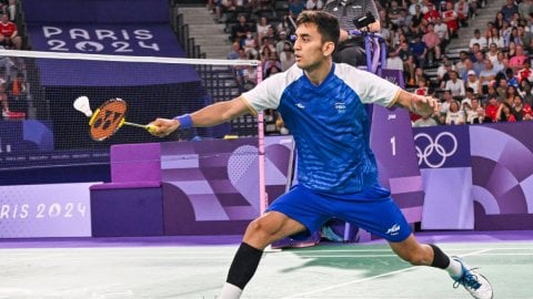
[[[242,234],[259,216],[257,145],[257,138],[161,144],[165,234]],[[275,198],[286,188],[292,137],[268,137],[265,156],[266,192]]]

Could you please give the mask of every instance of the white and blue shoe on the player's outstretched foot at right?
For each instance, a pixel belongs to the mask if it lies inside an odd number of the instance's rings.
[[[472,297],[476,299],[492,299],[492,286],[489,280],[481,274],[475,271],[475,268],[469,269],[469,266],[459,257],[452,257],[452,259],[461,264],[462,274],[460,277],[452,277],[455,282],[453,288],[463,286]]]

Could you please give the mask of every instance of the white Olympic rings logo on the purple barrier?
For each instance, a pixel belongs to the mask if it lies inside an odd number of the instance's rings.
[[[439,135],[436,135],[435,140],[433,140],[426,133],[419,133],[416,136],[414,136],[414,141],[416,142],[416,140],[422,137],[428,140],[428,145],[424,147],[424,150],[421,150],[416,145],[414,146],[416,150],[416,156],[419,157],[419,165],[421,165],[423,161],[429,167],[439,168],[444,165],[447,157],[452,156],[457,151],[457,138],[455,138],[455,136],[450,132],[441,132]],[[451,140],[451,143],[453,144],[452,148],[445,148],[442,145],[442,140],[446,137]],[[433,155],[433,153],[440,156],[438,158],[438,163],[433,163],[429,158]]]

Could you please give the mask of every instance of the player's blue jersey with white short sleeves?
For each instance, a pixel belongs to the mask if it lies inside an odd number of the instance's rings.
[[[296,144],[298,181],[311,190],[350,194],[379,184],[364,104],[394,104],[400,87],[348,64],[314,85],[293,65],[243,94],[254,111],[276,109]]]

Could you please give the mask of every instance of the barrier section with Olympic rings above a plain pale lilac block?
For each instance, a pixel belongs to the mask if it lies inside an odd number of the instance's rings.
[[[425,190],[422,228],[472,229],[469,127],[415,127],[413,133]]]

